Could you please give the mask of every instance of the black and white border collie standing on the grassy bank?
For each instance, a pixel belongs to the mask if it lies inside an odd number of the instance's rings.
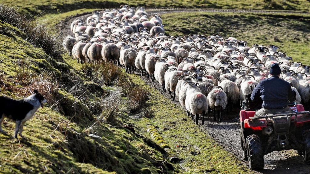
[[[37,91],[33,91],[34,94],[22,100],[14,100],[7,97],[0,97],[0,132],[6,134],[1,128],[1,123],[4,117],[7,117],[15,121],[15,134],[14,138],[17,138],[17,133],[20,137],[24,124],[27,120],[31,119],[34,113],[39,107],[43,107],[46,103],[46,99]]]

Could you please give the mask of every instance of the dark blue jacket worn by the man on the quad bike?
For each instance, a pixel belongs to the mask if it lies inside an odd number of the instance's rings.
[[[266,109],[286,107],[290,102],[294,102],[294,98],[295,92],[290,84],[278,76],[262,80],[251,94],[251,100],[254,102],[263,100],[262,107]]]

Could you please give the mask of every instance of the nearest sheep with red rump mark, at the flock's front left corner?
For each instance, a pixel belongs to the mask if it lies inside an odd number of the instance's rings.
[[[190,87],[186,91],[185,108],[192,117],[195,117],[195,124],[198,124],[199,114],[202,114],[202,125],[205,124],[205,115],[208,112],[208,102],[205,95],[197,87],[198,83],[186,82]]]

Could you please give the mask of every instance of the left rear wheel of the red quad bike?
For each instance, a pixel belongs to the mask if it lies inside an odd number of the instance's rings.
[[[264,154],[259,136],[253,134],[246,137],[247,156],[251,169],[264,168]]]

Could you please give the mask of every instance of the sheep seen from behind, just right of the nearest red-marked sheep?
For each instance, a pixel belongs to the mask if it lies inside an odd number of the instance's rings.
[[[210,89],[214,88],[214,86],[210,86]],[[217,86],[212,89],[207,96],[209,107],[213,110],[213,119],[216,121],[216,112],[217,118],[219,122],[222,122],[222,110],[224,110],[227,106],[227,95],[225,94],[223,88],[221,86]]]

